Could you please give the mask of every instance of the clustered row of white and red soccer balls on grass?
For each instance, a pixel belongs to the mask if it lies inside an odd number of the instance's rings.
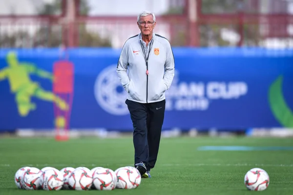
[[[114,190],[135,189],[141,183],[139,171],[131,166],[113,171],[108,168],[21,167],[15,174],[15,184],[24,190]]]

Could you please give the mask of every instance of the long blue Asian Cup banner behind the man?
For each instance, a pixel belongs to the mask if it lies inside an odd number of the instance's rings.
[[[0,50],[0,130],[52,129],[70,121],[71,129],[131,131],[126,91],[116,74],[120,51]],[[293,50],[173,53],[164,129],[293,127]],[[58,63],[71,64],[72,76]]]

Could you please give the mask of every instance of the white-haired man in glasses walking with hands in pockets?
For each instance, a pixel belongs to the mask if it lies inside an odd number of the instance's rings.
[[[153,33],[156,26],[153,13],[139,14],[137,25],[141,33],[126,40],[117,74],[128,93],[126,104],[133,123],[134,166],[147,178],[159,152],[165,91],[174,77],[174,56],[169,41]]]

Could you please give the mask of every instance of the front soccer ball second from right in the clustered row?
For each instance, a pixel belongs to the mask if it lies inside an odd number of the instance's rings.
[[[93,173],[93,186],[97,190],[114,190],[116,184],[117,176],[111,169],[96,169]]]

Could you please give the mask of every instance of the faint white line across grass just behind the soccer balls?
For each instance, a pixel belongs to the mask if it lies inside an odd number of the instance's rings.
[[[110,166],[114,164],[103,164],[103,166]],[[116,166],[133,166],[133,164],[115,164]],[[1,167],[23,167],[23,166],[29,166],[29,167],[97,167],[101,166],[101,164],[22,164],[22,165],[16,165],[16,164],[0,164]],[[188,166],[188,167],[199,167],[199,166],[223,166],[223,167],[230,167],[230,166],[239,166],[239,167],[245,167],[245,166],[254,166],[254,167],[293,167],[293,164],[249,164],[249,163],[238,163],[238,164],[158,164],[158,167],[160,166],[166,166],[166,167],[172,167],[172,166]]]

